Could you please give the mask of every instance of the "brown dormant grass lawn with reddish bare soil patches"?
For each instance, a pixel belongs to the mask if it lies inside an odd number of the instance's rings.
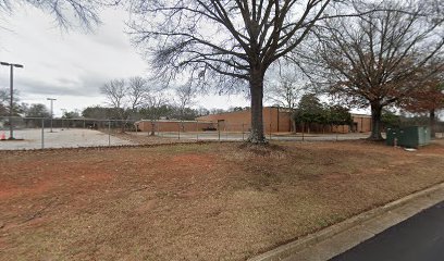
[[[245,260],[444,182],[444,142],[0,152],[0,260]]]

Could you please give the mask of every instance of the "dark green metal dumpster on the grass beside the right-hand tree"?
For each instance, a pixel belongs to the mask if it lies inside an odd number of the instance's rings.
[[[419,148],[430,144],[431,135],[428,126],[407,126],[400,128],[387,128],[385,144],[406,148]]]

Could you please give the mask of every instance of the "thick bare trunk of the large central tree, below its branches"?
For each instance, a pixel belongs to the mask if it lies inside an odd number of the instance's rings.
[[[263,135],[263,73],[261,70],[252,69],[250,74],[250,95],[251,95],[251,132],[248,142],[266,144]]]

